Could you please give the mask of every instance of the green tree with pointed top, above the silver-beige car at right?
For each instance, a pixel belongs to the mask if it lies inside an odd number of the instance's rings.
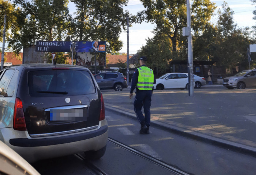
[[[218,9],[217,25],[206,25],[206,30],[197,33],[193,41],[193,56],[197,60],[217,61],[223,72],[240,65],[247,67],[247,48],[251,42],[249,28],[237,28],[234,12],[227,3]]]

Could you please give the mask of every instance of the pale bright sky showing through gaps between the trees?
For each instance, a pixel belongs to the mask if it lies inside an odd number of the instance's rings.
[[[217,9],[221,8],[223,0],[211,0],[213,3],[216,3]],[[192,1],[191,1],[192,2]],[[235,12],[234,13],[234,22],[237,23],[239,27],[252,27],[256,25],[256,20],[253,20],[253,10],[256,10],[255,5],[252,5],[250,0],[225,0],[229,7]],[[128,6],[124,9],[128,10],[133,15],[138,11],[143,10],[143,5],[139,0],[129,0]],[[214,23],[217,23],[217,10],[215,11],[216,17],[212,19]],[[129,27],[129,54],[135,54],[142,45],[146,44],[146,39],[148,37],[153,37],[151,31],[153,30],[154,25],[150,23],[143,24],[133,24],[132,27]],[[120,52],[127,53],[127,32],[123,31],[121,33],[120,39],[123,41],[124,46]]]

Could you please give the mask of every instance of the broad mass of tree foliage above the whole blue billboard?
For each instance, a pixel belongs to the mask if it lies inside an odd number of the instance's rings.
[[[76,12],[69,14],[69,0],[13,0],[21,7],[16,14],[16,32],[12,30],[9,45],[15,52],[30,47],[37,40],[107,41],[106,52],[119,51],[119,40],[127,17],[130,24],[135,16],[123,10],[128,0],[70,0]],[[48,56],[48,60],[50,56]],[[65,59],[65,57],[63,57]]]

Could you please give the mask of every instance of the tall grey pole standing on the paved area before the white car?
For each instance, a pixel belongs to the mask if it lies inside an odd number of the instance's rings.
[[[189,67],[189,96],[194,95],[194,74],[193,74],[193,49],[191,36],[190,0],[187,0],[187,21],[188,21],[188,67]]]

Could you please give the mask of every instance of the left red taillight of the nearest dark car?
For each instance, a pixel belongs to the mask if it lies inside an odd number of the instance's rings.
[[[26,123],[23,112],[23,105],[19,98],[16,98],[14,108],[13,128],[18,131],[26,131]]]

